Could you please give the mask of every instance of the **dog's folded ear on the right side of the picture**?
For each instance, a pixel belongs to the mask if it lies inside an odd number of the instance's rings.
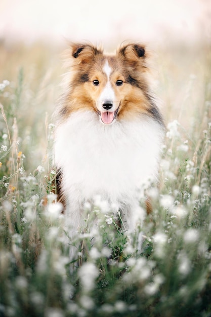
[[[130,43],[120,46],[117,55],[120,55],[124,60],[131,63],[143,63],[146,57],[146,49],[142,44]]]

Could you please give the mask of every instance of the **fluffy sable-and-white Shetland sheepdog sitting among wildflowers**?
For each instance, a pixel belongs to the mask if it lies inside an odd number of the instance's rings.
[[[148,51],[139,43],[115,54],[71,43],[68,85],[58,107],[55,165],[58,200],[73,229],[96,196],[134,231],[144,219],[140,188],[156,179],[164,124],[150,90]]]

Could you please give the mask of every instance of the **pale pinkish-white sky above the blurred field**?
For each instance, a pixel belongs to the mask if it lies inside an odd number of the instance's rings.
[[[0,39],[210,40],[211,0],[0,0]]]

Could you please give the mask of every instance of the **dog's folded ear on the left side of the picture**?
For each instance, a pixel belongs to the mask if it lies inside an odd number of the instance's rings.
[[[71,55],[76,64],[88,63],[103,51],[91,44],[70,43]]]

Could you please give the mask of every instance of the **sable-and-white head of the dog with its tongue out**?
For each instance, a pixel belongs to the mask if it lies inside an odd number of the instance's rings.
[[[147,113],[148,53],[144,45],[123,44],[110,55],[91,44],[71,43],[70,49],[68,112],[92,108],[105,125]]]

